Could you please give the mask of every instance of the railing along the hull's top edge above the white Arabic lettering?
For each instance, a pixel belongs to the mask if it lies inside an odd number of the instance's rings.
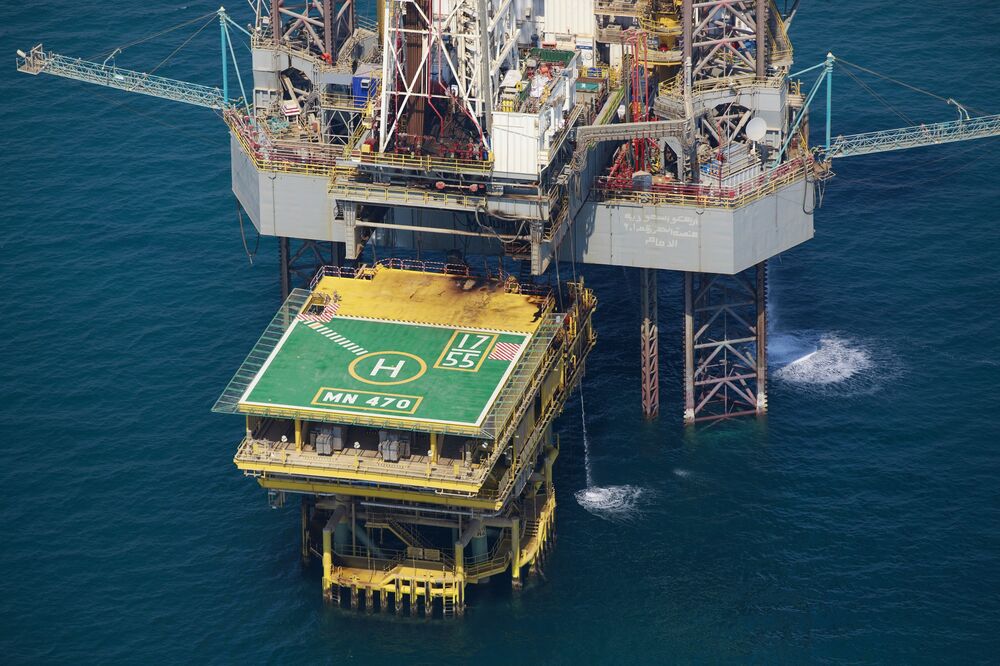
[[[602,176],[594,183],[591,192],[595,201],[608,203],[733,209],[746,206],[791,183],[804,180],[812,168],[812,159],[797,158],[735,187],[667,184],[653,185],[649,190],[638,190],[632,189],[630,183],[622,184]]]

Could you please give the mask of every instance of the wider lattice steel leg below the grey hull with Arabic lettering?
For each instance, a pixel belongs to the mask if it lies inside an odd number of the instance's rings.
[[[767,267],[684,276],[684,422],[767,411]]]

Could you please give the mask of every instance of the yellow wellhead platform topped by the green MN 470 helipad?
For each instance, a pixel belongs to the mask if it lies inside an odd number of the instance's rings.
[[[596,336],[582,284],[455,266],[327,268],[289,296],[219,398],[236,466],[301,498],[331,603],[452,616],[520,587],[551,545],[552,422]]]

